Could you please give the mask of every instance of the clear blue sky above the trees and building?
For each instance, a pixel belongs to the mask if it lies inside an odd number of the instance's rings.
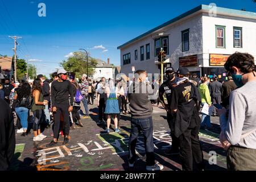
[[[46,4],[46,17],[38,16],[38,4]],[[160,2],[162,5],[160,5]],[[18,40],[18,56],[28,59],[38,73],[48,76],[71,52],[85,48],[92,57],[120,64],[121,44],[175,18],[200,4],[230,9],[256,10],[252,0],[0,0],[0,54],[12,56]],[[7,11],[6,11],[7,9]]]

